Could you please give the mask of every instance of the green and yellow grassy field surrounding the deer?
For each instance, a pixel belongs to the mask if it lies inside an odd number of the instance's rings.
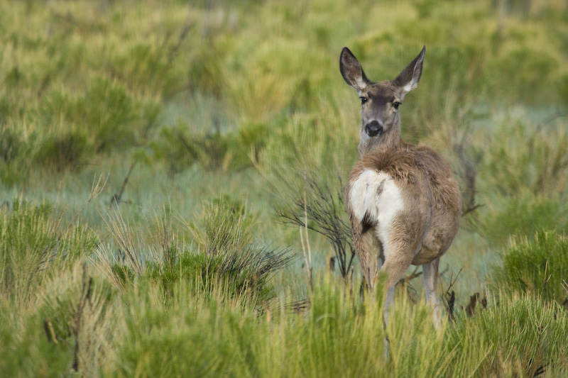
[[[4,1],[0,45],[1,375],[568,375],[566,1]],[[339,52],[422,45],[403,138],[466,212],[440,330],[420,269],[388,327],[361,299],[342,204]]]

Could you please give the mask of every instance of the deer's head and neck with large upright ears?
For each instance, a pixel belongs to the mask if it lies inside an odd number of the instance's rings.
[[[343,48],[339,57],[339,69],[345,82],[357,91],[361,99],[361,156],[381,146],[402,143],[398,109],[405,94],[415,89],[420,82],[425,52],[426,46],[392,82],[371,82],[349,48]]]

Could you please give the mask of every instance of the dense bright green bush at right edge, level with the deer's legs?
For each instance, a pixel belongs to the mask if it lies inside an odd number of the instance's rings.
[[[534,240],[522,238],[501,252],[501,265],[491,267],[490,287],[496,293],[540,296],[559,303],[568,299],[568,238],[539,230]]]

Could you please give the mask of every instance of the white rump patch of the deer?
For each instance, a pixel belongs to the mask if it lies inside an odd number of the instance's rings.
[[[391,176],[365,169],[352,184],[349,201],[354,216],[362,221],[367,214],[368,221],[376,223],[375,232],[381,243],[390,244],[394,218],[404,208],[403,196]]]

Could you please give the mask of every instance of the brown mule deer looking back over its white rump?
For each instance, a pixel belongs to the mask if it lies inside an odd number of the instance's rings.
[[[346,211],[368,289],[386,272],[385,322],[394,287],[410,265],[422,265],[426,301],[441,321],[437,295],[439,259],[457,233],[461,196],[449,164],[425,145],[400,136],[399,106],[417,87],[426,47],[391,81],[371,82],[343,48],[339,68],[361,99],[359,153],[346,188]]]

